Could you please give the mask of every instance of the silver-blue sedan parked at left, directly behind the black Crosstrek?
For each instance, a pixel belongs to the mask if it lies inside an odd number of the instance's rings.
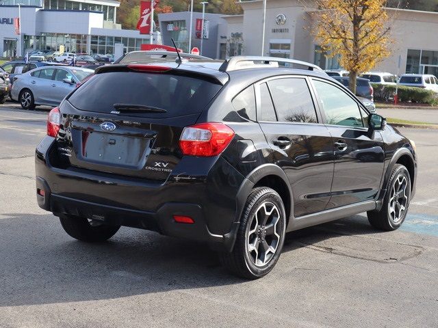
[[[57,106],[93,70],[73,66],[42,66],[14,77],[11,98],[23,109]]]

